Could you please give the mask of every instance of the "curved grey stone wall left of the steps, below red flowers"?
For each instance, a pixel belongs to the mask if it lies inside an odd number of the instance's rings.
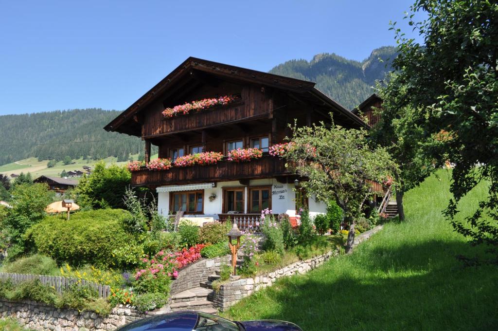
[[[222,263],[230,264],[230,255],[197,261],[178,272],[178,277],[171,283],[171,295],[199,287],[208,280]]]

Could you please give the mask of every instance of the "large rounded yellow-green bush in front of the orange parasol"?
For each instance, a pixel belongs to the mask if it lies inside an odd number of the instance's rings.
[[[127,216],[122,209],[80,211],[69,221],[48,216],[27,231],[26,240],[59,263],[112,266],[113,250],[134,240],[122,227]]]

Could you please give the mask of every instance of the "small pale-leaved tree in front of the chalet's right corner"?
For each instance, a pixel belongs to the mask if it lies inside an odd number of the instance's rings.
[[[350,224],[346,250],[353,250],[356,220],[374,194],[369,180],[381,181],[395,165],[384,148],[370,149],[364,130],[325,124],[294,127],[286,158],[307,180],[302,186],[318,200],[334,200]]]

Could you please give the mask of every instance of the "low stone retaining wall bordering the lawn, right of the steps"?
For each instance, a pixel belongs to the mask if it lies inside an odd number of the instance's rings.
[[[382,229],[381,225],[359,234],[355,238],[354,245],[356,246],[362,241],[369,239],[380,229]],[[265,275],[256,276],[254,278],[238,279],[223,284],[219,291],[215,293],[214,305],[223,312],[230,306],[235,305],[242,298],[249,296],[252,292],[271,286],[277,279],[295,274],[306,273],[337,255],[339,255],[339,250],[333,250],[305,261],[292,263],[282,269],[278,269]]]

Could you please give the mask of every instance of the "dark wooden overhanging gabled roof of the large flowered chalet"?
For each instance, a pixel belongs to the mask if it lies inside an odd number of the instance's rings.
[[[313,99],[333,107],[341,113],[341,115],[345,116],[353,123],[365,126],[365,123],[358,116],[352,114],[348,109],[344,108],[339,103],[314,88],[315,83],[313,82],[189,57],[147,93],[124,110],[123,113],[111,121],[111,123],[106,125],[104,129],[107,131],[117,131],[140,137],[141,127],[137,122],[133,121],[133,116],[143,110],[152,101],[154,101],[157,96],[166,92],[169,88],[174,89],[175,83],[180,79],[192,75],[194,72],[213,74],[219,77],[241,82],[262,84],[268,87],[286,90],[297,94],[307,94]]]

